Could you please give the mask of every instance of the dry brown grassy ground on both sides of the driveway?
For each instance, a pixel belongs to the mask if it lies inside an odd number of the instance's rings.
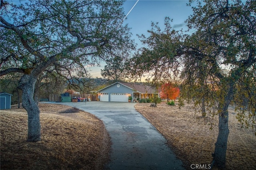
[[[169,146],[187,169],[191,164],[210,164],[218,135],[218,121],[213,129],[204,125],[188,106],[178,109],[165,102],[135,105],[167,139]],[[110,136],[94,115],[76,108],[40,104],[42,141],[26,142],[27,114],[12,107],[0,112],[1,169],[88,169],[99,170],[109,161]],[[256,169],[256,138],[250,129],[240,128],[230,109],[228,170]]]

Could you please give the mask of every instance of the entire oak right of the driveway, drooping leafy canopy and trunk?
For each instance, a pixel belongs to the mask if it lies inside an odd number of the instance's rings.
[[[206,117],[218,117],[213,164],[224,168],[230,104],[242,125],[256,129],[256,1],[196,2],[186,20],[192,34],[172,30],[169,18],[164,31],[152,23],[150,36],[140,36],[146,47],[132,65],[138,77],[148,73],[154,82],[178,81],[180,105],[193,102]]]

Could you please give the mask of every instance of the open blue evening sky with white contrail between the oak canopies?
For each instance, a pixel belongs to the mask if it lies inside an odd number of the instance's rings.
[[[137,0],[126,0],[124,2],[124,14],[132,9]],[[126,17],[123,24],[128,24],[131,28],[132,39],[137,43],[137,48],[142,47],[138,35],[149,35],[151,22],[158,22],[160,28],[164,29],[164,18],[172,19],[172,28],[187,30],[185,20],[192,14],[192,8],[187,6],[188,0],[139,0],[136,6]],[[104,69],[104,63],[101,67],[90,67],[90,74],[93,77],[101,77],[100,69]]]

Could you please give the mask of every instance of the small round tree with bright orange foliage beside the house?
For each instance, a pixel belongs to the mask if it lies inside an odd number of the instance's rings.
[[[180,89],[178,87],[174,87],[172,83],[164,83],[161,86],[160,97],[161,99],[169,99],[175,100],[180,94]]]

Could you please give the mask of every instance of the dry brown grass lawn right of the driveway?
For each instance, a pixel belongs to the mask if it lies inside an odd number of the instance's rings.
[[[202,125],[203,119],[198,119],[190,107],[178,109],[178,105],[169,106],[166,102],[149,107],[150,103],[135,105],[154,127],[168,140],[178,158],[182,159],[186,168],[191,164],[210,164],[214,143],[218,136],[218,121],[215,120],[213,130]],[[226,153],[226,169],[256,170],[256,139],[252,130],[240,128],[235,118],[234,110],[229,110],[228,149]]]

